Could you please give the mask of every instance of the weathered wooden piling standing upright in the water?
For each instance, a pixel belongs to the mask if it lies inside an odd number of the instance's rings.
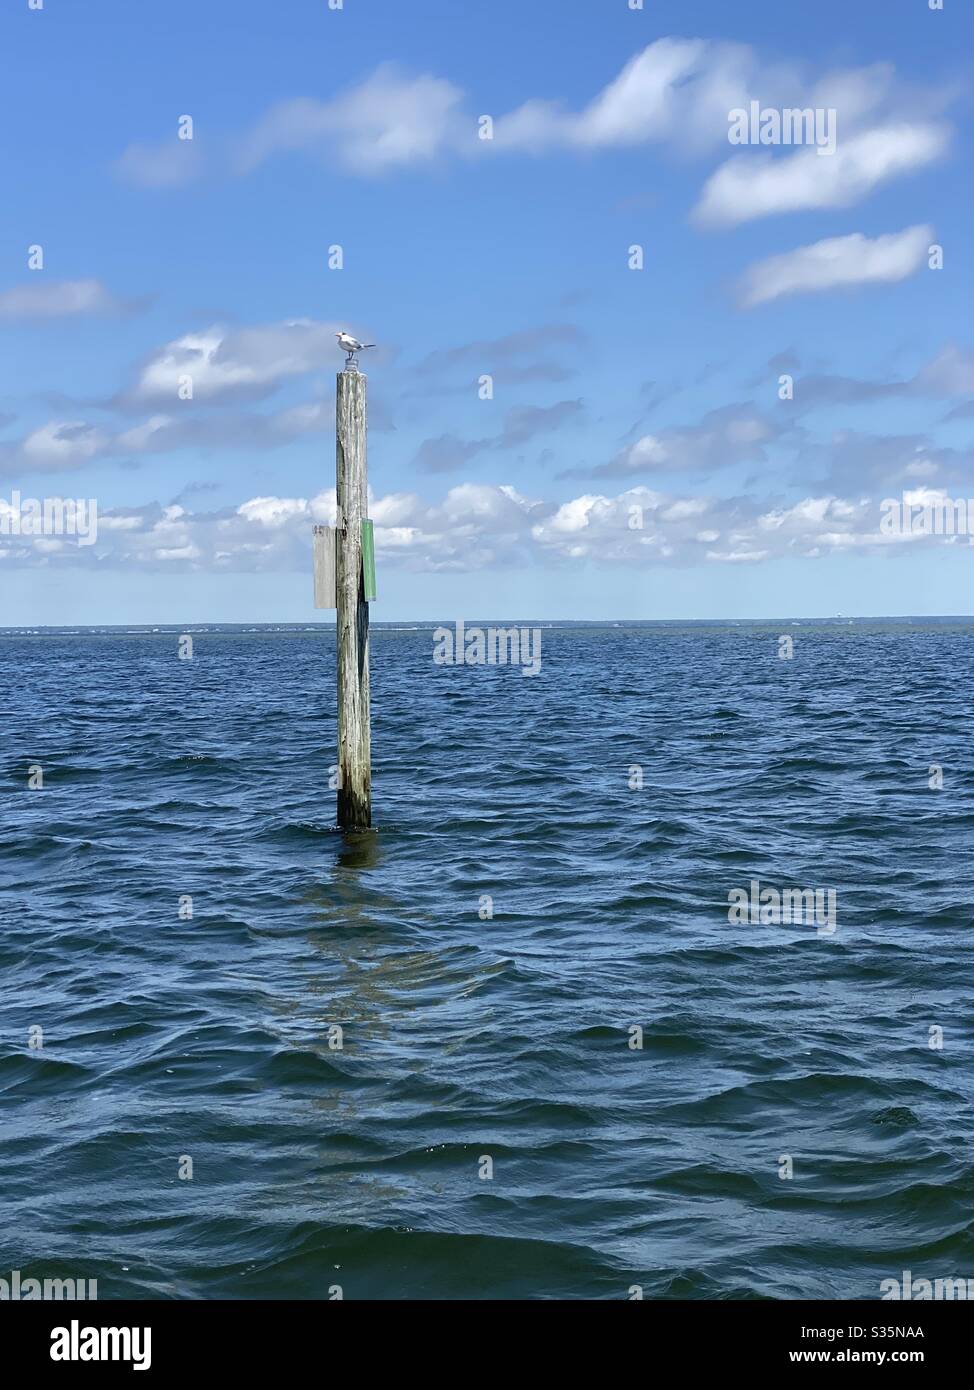
[[[372,738],[368,701],[368,602],[361,557],[368,509],[365,377],[338,374],[338,823],[343,830],[372,824]]]

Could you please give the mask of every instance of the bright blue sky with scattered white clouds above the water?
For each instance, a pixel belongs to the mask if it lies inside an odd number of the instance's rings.
[[[0,513],[99,531],[0,535],[0,624],[314,619],[336,327],[379,343],[377,620],[970,613],[968,537],[880,500],[974,496],[973,28],[10,0]],[[731,145],[750,100],[834,153]]]

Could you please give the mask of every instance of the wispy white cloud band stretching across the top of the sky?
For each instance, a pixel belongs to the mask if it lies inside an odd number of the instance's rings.
[[[385,63],[364,81],[328,100],[302,96],[265,111],[251,129],[224,142],[239,174],[289,152],[306,152],[352,174],[377,177],[396,168],[432,165],[445,156],[489,157],[550,149],[593,152],[664,143],[700,154],[727,142],[728,111],[757,99],[768,106],[829,106],[846,135],[896,117],[906,97],[888,64],[827,72],[817,82],[795,64],[764,64],[743,43],[660,38],[639,50],[578,110],[531,96],[509,113],[490,113],[456,83]],[[909,93],[916,121],[949,97]],[[493,138],[481,139],[478,117],[493,117]],[[132,145],[117,161],[124,177],[147,188],[199,177],[197,140],[175,138]]]

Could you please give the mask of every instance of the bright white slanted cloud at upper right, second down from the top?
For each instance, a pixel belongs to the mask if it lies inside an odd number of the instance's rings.
[[[811,147],[777,158],[739,154],[710,177],[693,215],[735,225],[774,213],[852,207],[880,183],[941,158],[948,145],[943,125],[896,124],[839,139],[834,154]]]

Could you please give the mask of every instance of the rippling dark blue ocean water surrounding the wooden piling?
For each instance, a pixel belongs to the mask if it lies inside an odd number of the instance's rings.
[[[535,678],[374,628],[354,837],[333,634],[185,631],[0,634],[0,1275],[974,1275],[974,621],[543,627]]]

